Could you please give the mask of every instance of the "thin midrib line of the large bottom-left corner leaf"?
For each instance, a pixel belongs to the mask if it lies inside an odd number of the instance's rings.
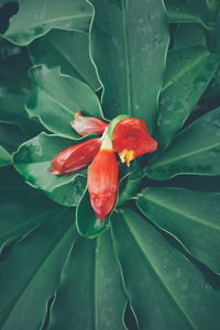
[[[61,216],[61,213],[64,213],[66,210],[62,210],[62,212],[59,212],[59,215],[57,215],[57,217]],[[57,218],[56,217],[56,218]],[[42,223],[41,223],[42,224]],[[35,230],[35,229],[34,229]],[[59,248],[59,245],[62,245],[63,241],[65,240],[65,238],[69,234],[72,228],[68,228],[65,233],[63,233],[57,240],[56,242],[53,244],[52,249],[50,249],[48,253],[46,254],[46,256],[43,257],[43,260],[40,262],[40,264],[36,266],[37,271],[33,272],[32,275],[30,276],[30,279],[28,280],[28,283],[25,284],[25,287],[23,287],[20,292],[20,294],[16,296],[16,298],[13,301],[13,306],[10,308],[9,312],[7,314],[7,316],[4,317],[3,322],[1,323],[1,329],[4,329],[4,324],[7,323],[10,315],[12,314],[12,311],[14,310],[14,308],[16,307],[16,305],[19,304],[19,301],[21,300],[21,298],[23,297],[23,295],[25,294],[25,292],[28,290],[29,286],[31,285],[31,283],[37,277],[40,271],[45,266],[46,262],[48,261],[48,258],[51,258],[51,256],[57,251],[57,249]]]

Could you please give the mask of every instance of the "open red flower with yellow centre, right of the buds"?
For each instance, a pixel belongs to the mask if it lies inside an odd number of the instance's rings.
[[[127,166],[130,166],[130,162],[135,157],[157,148],[157,142],[148,135],[144,121],[135,118],[119,121],[113,129],[112,138],[113,148]]]

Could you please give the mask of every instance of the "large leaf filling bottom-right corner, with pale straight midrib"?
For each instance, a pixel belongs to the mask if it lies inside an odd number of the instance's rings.
[[[113,242],[140,329],[219,328],[220,292],[136,212],[112,217]]]

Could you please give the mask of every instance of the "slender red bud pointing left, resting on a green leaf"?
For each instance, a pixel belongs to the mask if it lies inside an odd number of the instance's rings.
[[[101,139],[91,139],[63,150],[51,161],[51,173],[63,175],[87,166],[99,152]]]

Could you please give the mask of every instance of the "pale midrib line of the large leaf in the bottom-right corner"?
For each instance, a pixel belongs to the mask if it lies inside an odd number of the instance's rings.
[[[156,267],[154,266],[154,264],[152,263],[151,258],[147,257],[147,255],[145,254],[144,248],[141,245],[139,238],[136,237],[136,234],[132,231],[132,229],[130,228],[129,221],[127,221],[127,217],[124,216],[124,220],[127,223],[127,227],[131,233],[131,235],[133,237],[134,241],[136,242],[136,245],[139,248],[139,250],[141,251],[141,253],[144,255],[144,260],[147,261],[147,264],[152,267],[153,272],[155,273],[155,275],[157,276],[157,278],[160,279],[160,282],[162,283],[163,287],[165,288],[165,290],[168,293],[169,297],[175,301],[176,306],[178,307],[178,309],[180,310],[180,312],[183,314],[184,318],[187,320],[187,322],[190,324],[191,329],[196,329],[194,322],[190,320],[190,318],[187,316],[185,308],[180,305],[180,302],[176,299],[176,297],[174,296],[174,294],[172,293],[172,290],[167,287],[166,283],[163,280],[163,277],[161,276],[161,274],[157,272]]]

